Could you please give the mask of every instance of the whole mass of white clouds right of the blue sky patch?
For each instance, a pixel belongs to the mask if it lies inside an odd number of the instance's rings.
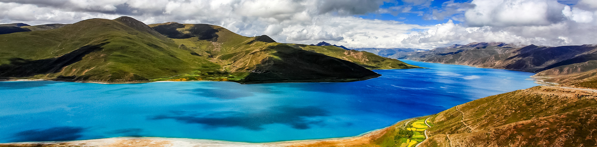
[[[470,42],[520,45],[582,45],[597,43],[597,11],[582,0],[578,7],[555,0],[474,0],[460,24],[448,21],[412,33],[404,46],[436,48]],[[583,4],[583,7],[580,7]]]

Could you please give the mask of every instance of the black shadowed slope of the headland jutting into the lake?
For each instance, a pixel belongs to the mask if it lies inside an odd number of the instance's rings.
[[[261,60],[245,83],[299,80],[328,80],[342,82],[344,79],[361,79],[379,75],[353,62],[341,60],[316,52],[305,51],[289,45],[269,46],[276,51]]]

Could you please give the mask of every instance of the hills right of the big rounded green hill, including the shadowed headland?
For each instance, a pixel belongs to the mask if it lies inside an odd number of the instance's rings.
[[[346,50],[335,46],[327,51],[324,48],[330,46],[311,46],[312,49],[307,45],[277,43],[266,35],[245,37],[209,24],[171,22],[149,26],[170,37],[182,48],[222,63],[223,70],[230,73],[215,80],[239,83],[349,82],[380,76],[363,67],[419,68],[374,54],[367,54],[365,58],[377,57],[378,62],[359,61],[358,58],[342,54]],[[171,77],[171,80],[202,79],[205,77],[201,74]]]

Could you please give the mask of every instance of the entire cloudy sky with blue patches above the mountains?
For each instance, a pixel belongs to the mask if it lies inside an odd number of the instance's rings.
[[[0,0],[0,23],[122,15],[146,24],[214,24],[285,43],[365,48],[597,43],[597,0]]]

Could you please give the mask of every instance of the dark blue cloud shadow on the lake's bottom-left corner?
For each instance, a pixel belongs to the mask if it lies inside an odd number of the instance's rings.
[[[85,129],[81,127],[53,127],[50,129],[33,129],[16,133],[12,142],[43,142],[76,140]]]

